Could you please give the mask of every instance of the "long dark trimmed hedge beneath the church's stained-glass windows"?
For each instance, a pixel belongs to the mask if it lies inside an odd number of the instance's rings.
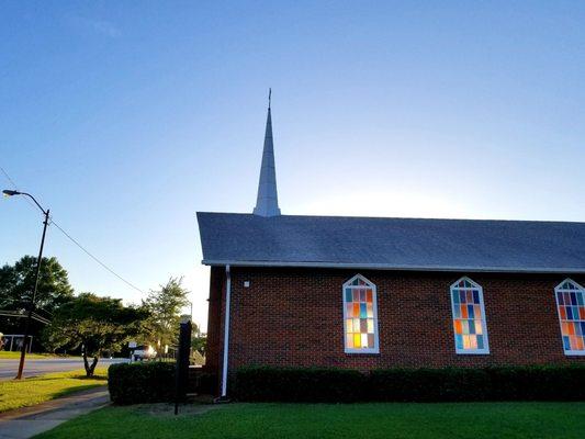
[[[585,367],[342,369],[248,367],[230,394],[270,402],[585,401]]]

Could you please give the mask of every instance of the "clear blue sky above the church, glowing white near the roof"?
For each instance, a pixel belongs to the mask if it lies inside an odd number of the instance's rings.
[[[194,214],[251,212],[268,87],[285,214],[585,221],[582,1],[123,3],[2,3],[0,166],[140,289],[184,275],[200,323]],[[0,202],[0,263],[40,234]]]

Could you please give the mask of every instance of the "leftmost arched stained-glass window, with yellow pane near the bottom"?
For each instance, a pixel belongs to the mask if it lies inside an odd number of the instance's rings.
[[[378,353],[375,285],[357,274],[344,283],[345,346],[348,353]]]

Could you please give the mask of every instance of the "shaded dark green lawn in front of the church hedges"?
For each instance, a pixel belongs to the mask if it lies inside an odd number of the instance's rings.
[[[585,403],[230,404],[172,416],[105,407],[37,438],[583,438]]]

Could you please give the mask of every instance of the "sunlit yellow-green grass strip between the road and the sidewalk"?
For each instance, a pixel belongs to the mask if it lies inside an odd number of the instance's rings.
[[[26,407],[72,392],[108,384],[105,368],[98,368],[95,374],[87,379],[85,371],[72,371],[47,373],[22,381],[0,381],[0,412]]]

